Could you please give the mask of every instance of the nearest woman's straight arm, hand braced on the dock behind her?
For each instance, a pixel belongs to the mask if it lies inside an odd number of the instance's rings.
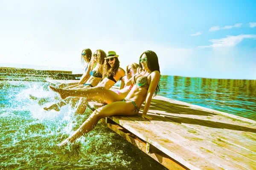
[[[154,91],[157,88],[157,84],[159,82],[159,79],[160,79],[159,71],[154,71],[151,74],[151,81],[150,81],[150,85],[149,85],[149,88],[148,88],[148,93],[147,93],[147,96],[146,96],[146,99],[145,99],[145,106],[144,106],[143,113],[142,113],[142,118],[143,119],[153,120],[153,118],[151,116],[147,116],[147,113],[148,113],[148,108],[151,104],[152,96],[154,94]]]

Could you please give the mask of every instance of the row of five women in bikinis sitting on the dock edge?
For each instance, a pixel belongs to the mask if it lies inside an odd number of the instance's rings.
[[[108,55],[102,50],[96,50],[93,54],[90,49],[84,49],[81,61],[86,62],[84,74],[79,83],[61,84],[49,86],[50,89],[60,94],[61,101],[45,110],[59,110],[68,101],[79,101],[76,114],[84,113],[87,102],[96,101],[105,104],[96,109],[90,117],[59,144],[62,146],[72,143],[80,136],[88,133],[95,127],[99,119],[108,116],[135,116],[140,111],[140,106],[145,102],[142,118],[152,120],[147,115],[151,98],[160,91],[160,68],[157,54],[154,51],[145,51],[140,55],[139,64],[128,65],[125,71],[119,67],[118,55],[109,51]],[[121,80],[120,90],[111,91],[110,88]]]

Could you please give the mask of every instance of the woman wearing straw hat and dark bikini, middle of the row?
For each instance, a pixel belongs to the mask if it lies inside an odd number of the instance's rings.
[[[104,62],[103,80],[97,85],[97,87],[110,89],[119,79],[125,77],[125,71],[119,67],[120,62],[118,57],[119,55],[116,55],[115,51],[108,51],[108,56],[105,58]],[[92,98],[81,97],[75,115],[84,113],[87,108],[88,101],[104,103],[99,96],[94,96]]]

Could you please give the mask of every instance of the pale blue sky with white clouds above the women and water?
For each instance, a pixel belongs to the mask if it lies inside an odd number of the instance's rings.
[[[81,71],[90,48],[116,51],[125,69],[152,50],[161,75],[256,79],[255,9],[255,0],[1,0],[0,66]]]

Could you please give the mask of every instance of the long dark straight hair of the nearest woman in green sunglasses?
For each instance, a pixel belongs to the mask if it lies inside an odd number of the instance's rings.
[[[145,54],[147,57],[148,69],[150,71],[159,71],[159,73],[160,73],[157,54],[154,51],[150,51],[150,50],[145,51],[143,54]],[[143,54],[140,55],[140,58],[143,56]],[[140,63],[140,68],[142,68],[141,63]],[[157,93],[159,93],[159,92],[160,92],[160,81],[158,81],[157,88],[154,91],[154,96],[156,96]]]

